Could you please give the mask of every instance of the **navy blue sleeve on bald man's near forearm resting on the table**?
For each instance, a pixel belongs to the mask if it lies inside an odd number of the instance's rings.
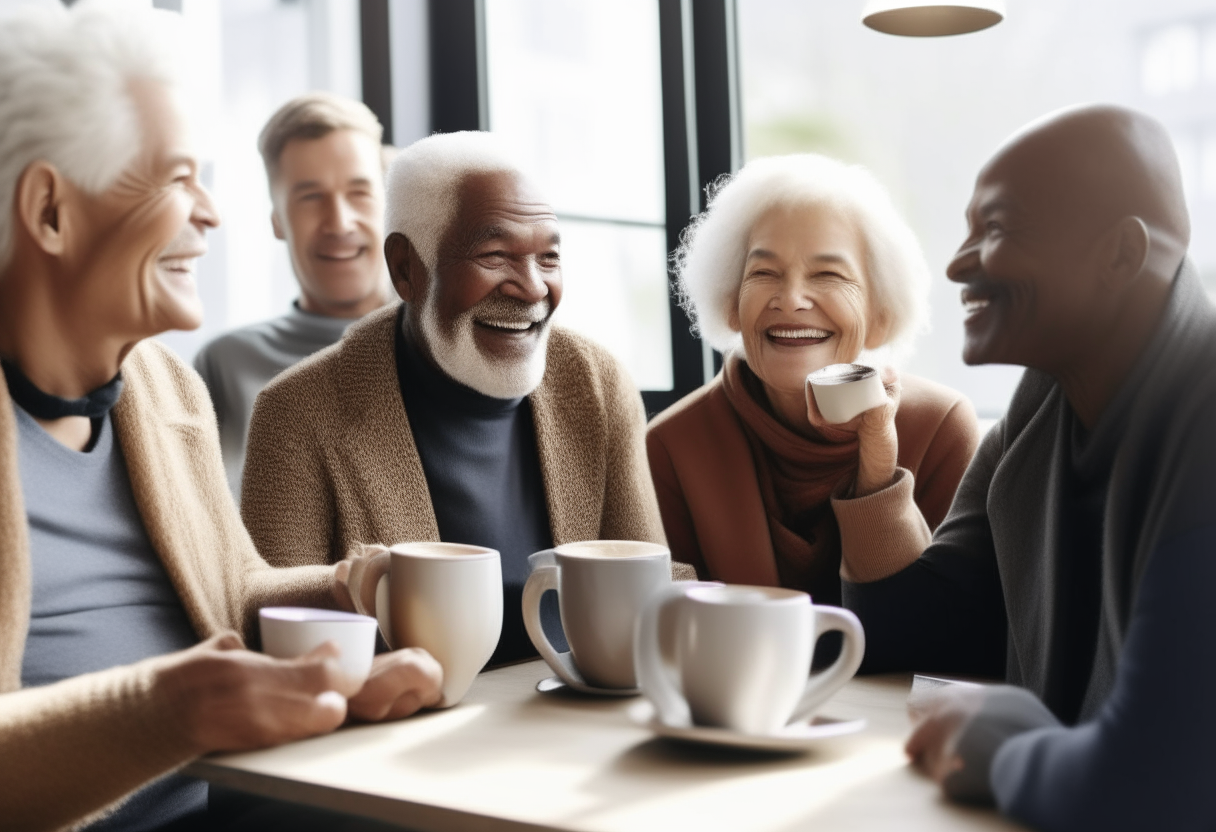
[[[1037,830],[1216,826],[1216,524],[1150,556],[1115,686],[1098,716],[1006,741],[1001,810]]]

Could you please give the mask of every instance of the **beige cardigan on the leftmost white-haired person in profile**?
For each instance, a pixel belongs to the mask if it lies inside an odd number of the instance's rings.
[[[334,606],[332,569],[272,569],[229,494],[202,381],[156,342],[123,364],[114,431],[152,547],[201,639],[248,633],[266,603]],[[17,427],[0,384],[0,827],[96,820],[197,755],[153,690],[164,658],[21,690],[29,629],[29,535]]]

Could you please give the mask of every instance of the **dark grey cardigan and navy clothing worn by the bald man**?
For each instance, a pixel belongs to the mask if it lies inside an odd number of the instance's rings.
[[[1216,310],[1189,264],[1083,448],[1073,418],[1059,386],[1028,370],[933,545],[894,575],[845,584],[866,667],[1003,669],[1055,712],[1026,731],[997,701],[966,729],[989,737],[964,748],[967,766],[991,765],[1014,817],[1049,830],[1212,828]],[[1080,724],[1065,726],[1077,656],[1066,637],[1075,584],[1062,575],[1074,572],[1077,527],[1063,512],[1087,488],[1079,474],[1100,482],[1108,452],[1097,634]]]

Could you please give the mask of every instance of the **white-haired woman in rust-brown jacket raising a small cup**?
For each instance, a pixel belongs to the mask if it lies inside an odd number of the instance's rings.
[[[889,369],[888,404],[845,425],[805,393],[807,373],[919,326],[916,237],[865,169],[773,157],[715,186],[677,262],[686,308],[726,361],[647,435],[672,557],[704,579],[837,603],[841,549],[927,541],[979,440],[966,397]]]

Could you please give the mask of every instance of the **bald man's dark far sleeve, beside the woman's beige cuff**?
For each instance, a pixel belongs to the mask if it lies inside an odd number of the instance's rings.
[[[980,443],[950,513],[916,561],[879,580],[841,580],[844,606],[866,628],[863,673],[1004,674],[1004,597],[987,518],[1001,437],[998,426]],[[848,574],[866,574],[868,564],[845,557]]]

